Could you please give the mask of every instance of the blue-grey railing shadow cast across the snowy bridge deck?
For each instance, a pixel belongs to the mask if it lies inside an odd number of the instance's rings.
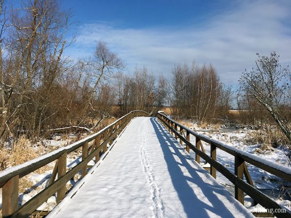
[[[231,194],[224,188],[221,188],[221,185],[218,183],[210,184],[203,181],[199,173],[205,175],[205,170],[200,166],[198,169],[195,169],[189,164],[188,161],[193,161],[193,158],[190,155],[184,155],[183,152],[181,152],[181,150],[184,150],[183,147],[177,145],[177,140],[173,138],[172,135],[169,134],[160,123],[157,122],[157,118],[151,118],[151,122],[163,151],[164,159],[167,163],[168,173],[171,176],[173,186],[176,189],[187,216],[192,217],[195,215],[197,217],[208,217],[209,214],[206,210],[209,210],[217,216],[234,217],[221,199],[215,195],[216,193],[221,196],[225,196],[226,199],[232,201],[233,198]],[[168,145],[166,142],[168,142]],[[175,157],[178,157],[181,163],[179,163]],[[186,168],[191,177],[185,176],[180,167]],[[189,186],[188,182],[198,185],[199,192],[203,193],[209,202],[211,202],[212,206],[209,206],[207,203],[203,202],[203,200],[199,199],[195,193],[195,190]],[[215,193],[213,190],[215,190]]]

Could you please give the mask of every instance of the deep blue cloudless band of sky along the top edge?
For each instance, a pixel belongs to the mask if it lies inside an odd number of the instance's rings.
[[[119,28],[198,24],[230,6],[227,1],[64,1],[64,7],[70,7],[80,23],[104,21],[118,24]]]

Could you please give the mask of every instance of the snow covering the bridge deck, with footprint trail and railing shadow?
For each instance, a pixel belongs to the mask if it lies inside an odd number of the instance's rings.
[[[131,121],[48,217],[248,217],[158,122]]]

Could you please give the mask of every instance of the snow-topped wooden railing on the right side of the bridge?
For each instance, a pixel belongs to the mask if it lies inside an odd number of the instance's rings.
[[[277,204],[271,198],[264,195],[254,187],[246,162],[275,176],[278,176],[279,178],[286,180],[287,182],[291,182],[290,168],[278,165],[277,163],[273,163],[270,161],[265,161],[264,159],[256,155],[244,152],[242,150],[236,149],[234,147],[228,146],[219,141],[206,137],[205,135],[199,134],[198,132],[192,131],[186,126],[168,118],[162,112],[158,112],[157,117],[165,126],[165,128],[172,135],[175,135],[176,139],[179,138],[181,145],[183,142],[186,144],[187,152],[192,149],[196,153],[196,161],[198,163],[200,163],[200,157],[202,157],[206,162],[210,164],[210,174],[214,178],[216,178],[216,170],[218,170],[234,184],[235,199],[237,199],[240,203],[244,204],[244,193],[246,193],[256,203],[259,203],[263,207],[270,209],[270,211],[274,211],[273,213],[277,217],[291,217],[291,213],[289,213],[288,211],[286,211],[285,213],[275,212],[284,211],[284,208],[282,208],[279,204]],[[184,131],[186,132],[186,135],[183,135]],[[195,145],[190,143],[190,134],[196,138]],[[210,144],[210,156],[205,153],[202,141]],[[217,162],[217,148],[234,156],[234,173],[229,171],[220,162]],[[244,175],[247,182],[244,181]]]

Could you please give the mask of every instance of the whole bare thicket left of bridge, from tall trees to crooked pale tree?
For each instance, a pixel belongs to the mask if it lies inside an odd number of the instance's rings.
[[[96,119],[110,116],[115,89],[107,79],[124,67],[117,55],[99,42],[91,61],[65,57],[74,36],[67,38],[71,14],[59,0],[23,0],[16,9],[11,5],[7,17],[4,3],[0,0],[1,142],[22,132],[38,137],[56,128],[94,128]]]

